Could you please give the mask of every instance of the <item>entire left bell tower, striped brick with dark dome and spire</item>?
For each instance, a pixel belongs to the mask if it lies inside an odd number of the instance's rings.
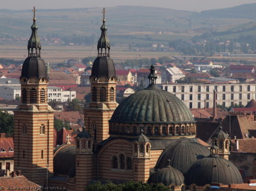
[[[28,57],[20,76],[21,101],[14,111],[14,169],[30,181],[45,185],[53,172],[53,112],[47,103],[47,67],[40,56],[35,7]]]

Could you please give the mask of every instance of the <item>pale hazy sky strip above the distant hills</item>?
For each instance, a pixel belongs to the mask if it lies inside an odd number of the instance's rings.
[[[201,11],[227,8],[256,0],[0,0],[1,9],[28,10],[32,6],[44,8],[86,8],[118,5],[157,6],[175,10]]]

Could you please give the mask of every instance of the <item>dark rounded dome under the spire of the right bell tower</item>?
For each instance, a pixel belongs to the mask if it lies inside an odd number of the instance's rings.
[[[97,57],[93,62],[91,77],[115,77],[116,70],[110,57]]]

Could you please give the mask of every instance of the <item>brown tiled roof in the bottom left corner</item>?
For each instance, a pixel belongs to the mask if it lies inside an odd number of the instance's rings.
[[[29,181],[25,176],[15,176],[13,178],[10,176],[0,177],[0,188],[3,190],[10,190],[10,188],[38,188],[35,190],[41,190],[39,185]]]

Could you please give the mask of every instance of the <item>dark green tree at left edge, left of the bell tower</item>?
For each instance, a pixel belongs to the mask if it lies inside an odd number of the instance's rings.
[[[0,111],[0,133],[13,135],[13,128],[13,116],[8,114],[6,111]]]

